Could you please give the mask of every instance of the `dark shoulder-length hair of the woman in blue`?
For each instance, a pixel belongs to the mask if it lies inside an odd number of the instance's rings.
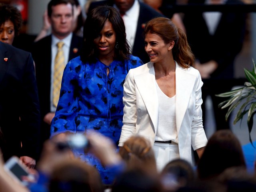
[[[103,29],[107,20],[112,24],[116,33],[116,42],[119,45],[119,48],[115,49],[115,59],[123,61],[130,57],[130,46],[126,40],[124,21],[120,13],[110,6],[98,6],[88,14],[84,23],[84,42],[80,54],[82,62],[91,63],[97,58],[94,39]]]

